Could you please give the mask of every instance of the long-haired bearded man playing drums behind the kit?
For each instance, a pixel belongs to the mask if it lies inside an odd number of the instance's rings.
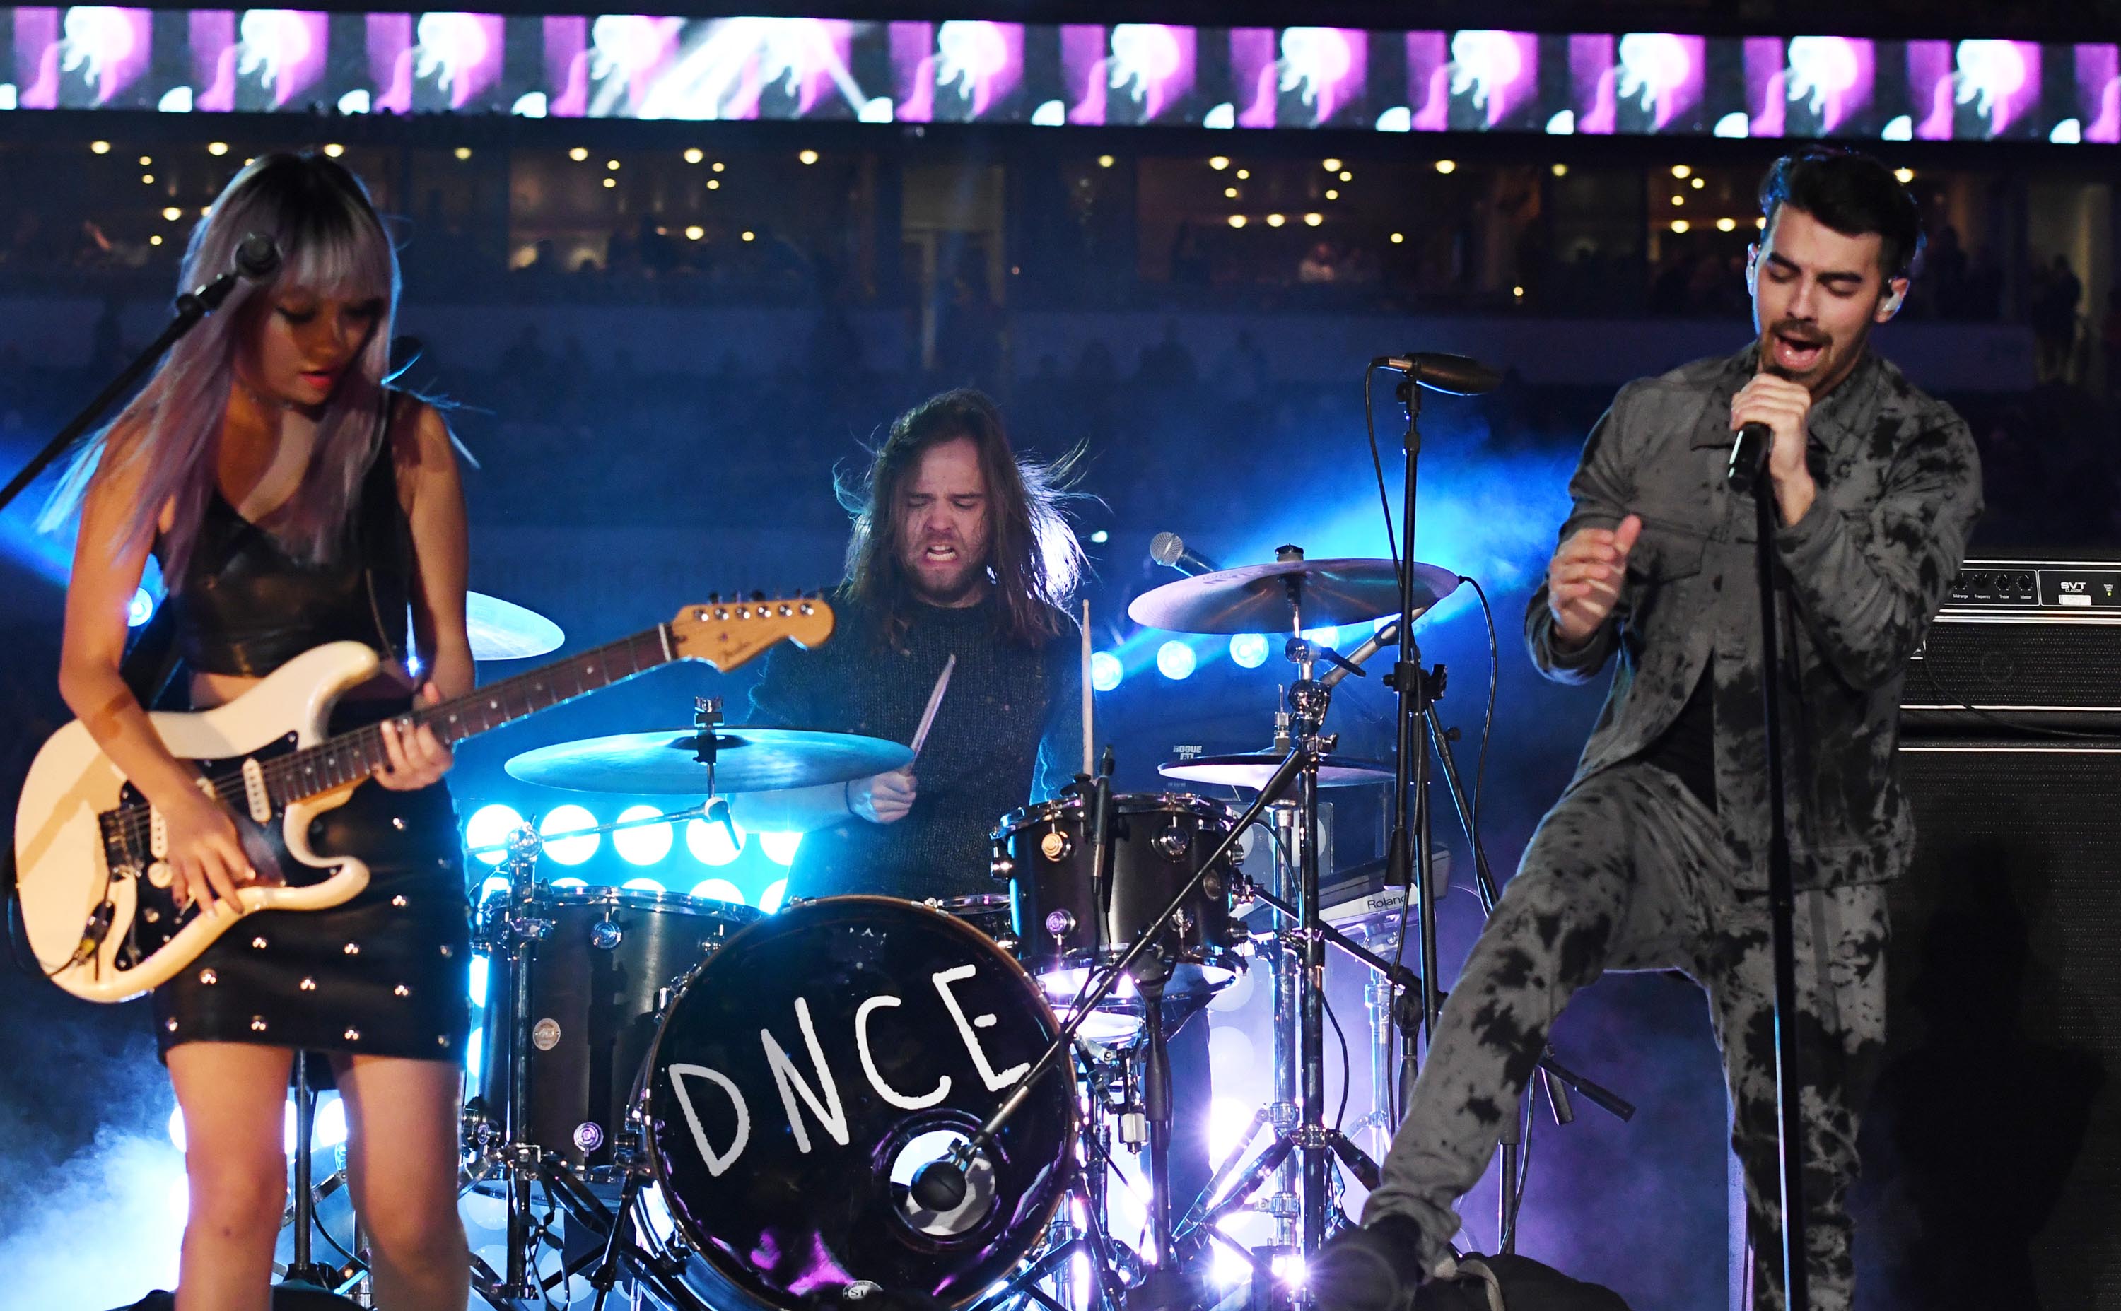
[[[988,832],[1082,764],[1077,630],[1063,609],[1082,547],[1058,482],[1012,452],[988,397],[950,390],[901,414],[865,475],[838,488],[855,515],[838,634],[768,656],[751,723],[910,742],[946,666],[950,683],[908,768],[734,798],[747,827],[808,834],[789,895],[1005,891],[988,876]]]

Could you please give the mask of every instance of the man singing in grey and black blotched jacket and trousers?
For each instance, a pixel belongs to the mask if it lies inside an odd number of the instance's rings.
[[[1606,969],[1684,969],[1710,997],[1746,1169],[1754,1307],[1782,1307],[1769,808],[1754,505],[1733,437],[1767,429],[1813,1311],[1852,1303],[1856,1114],[1886,1042],[1886,880],[1913,827],[1900,679],[1981,509],[1973,437],[1871,346],[1922,250],[1877,159],[1809,148],[1760,185],[1756,339],[1620,388],[1570,482],[1525,615],[1540,672],[1618,656],[1576,776],[1525,849],[1444,1006],[1364,1228],[1311,1266],[1326,1311],[1396,1311],[1453,1269],[1453,1203],[1487,1169],[1555,1018]],[[1758,431],[1746,437],[1752,443]]]

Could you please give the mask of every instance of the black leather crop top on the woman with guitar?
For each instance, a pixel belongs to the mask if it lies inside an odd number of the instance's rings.
[[[161,558],[159,537],[155,556]],[[333,641],[403,658],[411,571],[411,524],[378,424],[375,456],[350,507],[346,541],[325,560],[291,556],[214,488],[185,577],[170,585],[176,651],[197,672],[246,677],[269,675]]]

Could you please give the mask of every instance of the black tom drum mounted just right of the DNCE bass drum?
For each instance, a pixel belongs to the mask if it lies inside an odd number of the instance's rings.
[[[1014,895],[1016,955],[1056,1003],[1073,999],[1090,965],[1114,961],[1230,834],[1222,802],[1184,791],[1111,798],[1111,899],[1090,887],[1090,825],[1080,796],[1010,812],[995,829],[995,878]],[[1171,989],[1215,991],[1237,978],[1230,861],[1209,870],[1169,927]],[[1118,993],[1114,995],[1118,1001]]]

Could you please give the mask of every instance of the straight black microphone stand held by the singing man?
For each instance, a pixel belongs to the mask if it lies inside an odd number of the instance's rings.
[[[1782,776],[1782,658],[1775,624],[1775,492],[1773,482],[1739,469],[1733,490],[1752,492],[1754,560],[1760,583],[1760,711],[1767,719],[1767,908],[1775,952],[1775,1124],[1782,1137],[1782,1288],[1790,1311],[1809,1309],[1805,1269],[1805,1112],[1796,1052],[1796,882],[1790,874],[1790,827]]]

